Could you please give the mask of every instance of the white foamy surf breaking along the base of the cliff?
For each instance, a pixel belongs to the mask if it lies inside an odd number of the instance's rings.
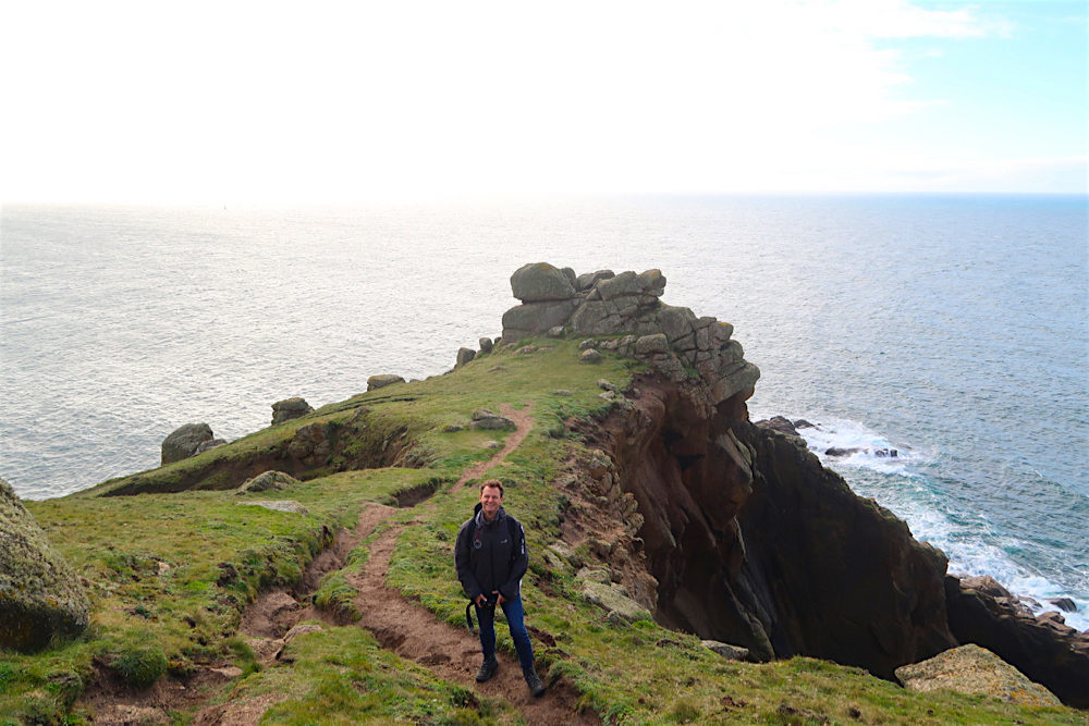
[[[1089,628],[1089,598],[1033,573],[1011,558],[1021,542],[1003,537],[986,515],[954,505],[928,471],[937,457],[904,442],[894,442],[865,423],[849,419],[809,418],[798,429],[821,464],[839,472],[855,493],[872,497],[904,519],[916,539],[929,542],[949,557],[949,571],[958,576],[988,575],[1018,595],[1036,614],[1056,610],[1051,603],[1069,598],[1077,606],[1063,613],[1066,624]],[[792,419],[799,420],[799,419]],[[829,456],[830,448],[859,450]],[[896,451],[896,456],[880,452]]]

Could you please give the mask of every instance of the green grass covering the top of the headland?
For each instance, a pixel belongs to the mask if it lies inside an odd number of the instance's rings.
[[[695,637],[654,623],[607,622],[578,596],[574,568],[553,568],[541,552],[558,539],[568,504],[554,482],[568,473],[571,457],[584,453],[579,438],[559,422],[601,415],[612,404],[600,398],[598,379],[624,387],[635,368],[611,355],[600,365],[580,364],[577,341],[536,343],[552,349],[495,352],[452,373],[355,396],[193,459],[68,497],[27,502],[86,581],[91,625],[79,638],[36,655],[0,653],[0,724],[82,723],[89,714],[77,699],[96,668],[144,686],[163,669],[183,676],[223,663],[238,665],[243,676],[215,698],[274,700],[262,723],[517,723],[509,705],[438,680],[382,651],[355,626],[302,636],[287,647],[285,664],[265,669],[237,635],[243,608],[260,590],[296,583],[307,563],[342,527],[353,527],[368,502],[395,505],[399,493],[417,487],[435,494],[426,506],[395,515],[403,529],[389,582],[451,627],[464,627],[452,551],[477,492],[470,483],[453,495],[451,483],[494,454],[486,442],[509,434],[444,429],[467,426],[477,408],[498,411],[503,404],[533,406],[536,421],[518,448],[488,473],[507,484],[505,505],[527,529],[533,556],[524,581],[527,624],[548,638],[547,643],[538,638],[535,648],[546,673],[567,678],[582,705],[605,723],[1085,723],[1084,714],[1067,709],[915,694],[857,668],[811,659],[727,662]],[[295,432],[315,422],[332,424],[335,446],[326,459],[299,465],[298,485],[244,496],[217,489],[241,484],[256,473],[248,468],[281,456]],[[391,451],[400,452],[399,466],[387,466]],[[187,491],[166,493],[182,484]],[[120,488],[147,493],[101,496]],[[237,506],[266,499],[297,501],[307,514]],[[342,622],[358,615],[345,573],[363,565],[367,544],[316,593],[319,607]],[[505,629],[499,633],[500,648],[513,653]]]

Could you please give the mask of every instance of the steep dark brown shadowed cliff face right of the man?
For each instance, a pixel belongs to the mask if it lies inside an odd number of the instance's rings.
[[[751,426],[751,390],[708,406],[701,384],[644,378],[599,445],[639,504],[657,618],[885,678],[956,644],[944,556],[855,496],[800,440]]]

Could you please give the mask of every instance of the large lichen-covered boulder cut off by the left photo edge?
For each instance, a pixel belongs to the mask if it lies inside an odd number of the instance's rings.
[[[0,648],[40,650],[82,632],[89,613],[79,578],[0,479]]]

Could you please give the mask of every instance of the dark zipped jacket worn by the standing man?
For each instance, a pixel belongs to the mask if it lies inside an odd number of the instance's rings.
[[[474,520],[476,530],[470,541],[469,524]],[[522,590],[522,576],[529,567],[526,532],[503,507],[499,507],[499,513],[490,522],[477,512],[457,532],[454,565],[462,589],[470,600],[476,600],[481,593],[490,594],[493,590],[499,590],[507,600],[514,600]]]

